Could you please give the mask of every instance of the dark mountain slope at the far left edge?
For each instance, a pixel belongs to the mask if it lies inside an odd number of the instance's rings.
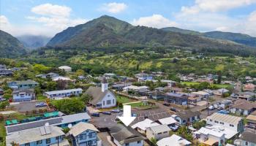
[[[0,30],[0,58],[14,58],[26,54],[26,48],[11,34]]]

